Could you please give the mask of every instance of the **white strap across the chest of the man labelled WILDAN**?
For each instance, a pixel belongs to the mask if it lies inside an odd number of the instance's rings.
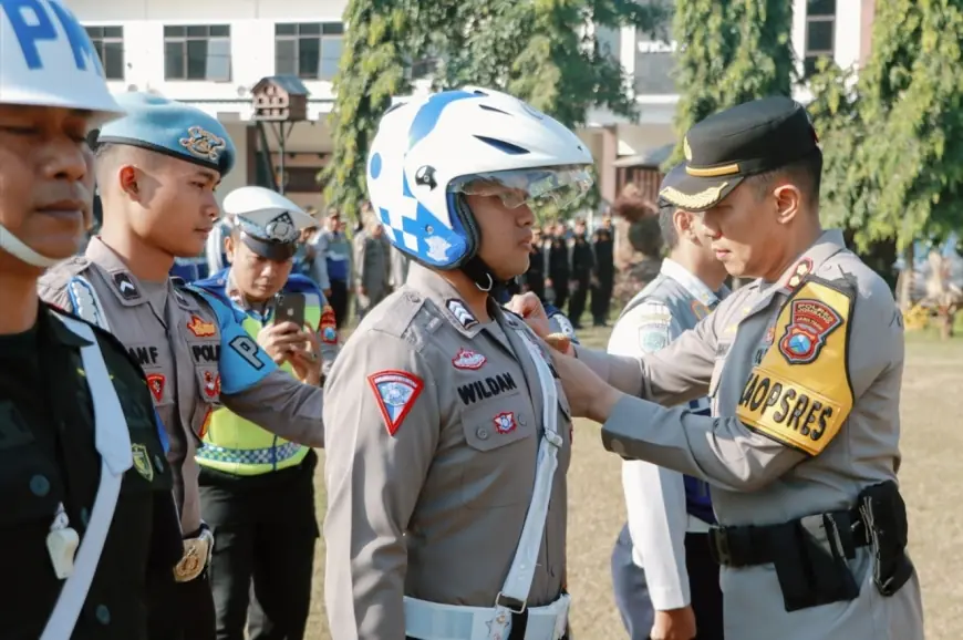
[[[549,369],[546,355],[539,349],[535,339],[527,329],[521,330],[525,345],[535,362],[538,372],[538,382],[542,398],[542,440],[538,446],[538,462],[535,472],[535,491],[531,493],[531,504],[525,516],[525,525],[521,527],[521,537],[515,550],[515,558],[508,569],[508,577],[501,587],[501,592],[495,601],[495,623],[491,627],[499,628],[504,632],[510,629],[511,612],[525,610],[531,590],[531,580],[535,578],[535,567],[538,562],[538,551],[545,536],[545,519],[548,516],[548,505],[551,499],[551,485],[558,468],[558,450],[562,445],[562,438],[558,433],[558,390],[555,379]],[[507,599],[521,602],[521,607],[511,607]],[[497,637],[499,629],[493,629],[491,638]]]

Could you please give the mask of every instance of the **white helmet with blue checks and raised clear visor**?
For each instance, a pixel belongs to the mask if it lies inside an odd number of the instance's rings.
[[[385,235],[436,269],[495,285],[477,256],[464,195],[498,194],[508,207],[571,205],[592,185],[592,155],[558,121],[488,89],[418,96],[381,118],[367,158],[367,192]]]

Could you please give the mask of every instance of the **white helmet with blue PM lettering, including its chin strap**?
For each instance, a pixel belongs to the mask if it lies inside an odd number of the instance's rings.
[[[85,110],[94,127],[124,114],[86,30],[60,0],[0,2],[0,104]],[[58,262],[2,225],[0,249],[34,267]]]

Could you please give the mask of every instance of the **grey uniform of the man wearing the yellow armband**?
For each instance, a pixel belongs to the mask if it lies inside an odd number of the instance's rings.
[[[805,269],[800,271],[800,266]],[[799,272],[843,282],[855,292],[846,354],[852,410],[818,455],[747,429],[736,416],[753,368],[780,340],[773,331]],[[776,282],[735,291],[705,320],[657,353],[627,359],[577,348],[613,386],[664,405],[706,393],[713,416],[665,409],[639,398],[619,401],[602,429],[607,448],[713,484],[723,525],[767,525],[849,508],[869,485],[894,479],[900,463],[902,317],[886,282],[826,231]],[[723,568],[726,637],[739,640],[921,640],[919,581],[893,597],[871,581],[871,557],[850,567],[858,599],[787,613],[772,565]]]

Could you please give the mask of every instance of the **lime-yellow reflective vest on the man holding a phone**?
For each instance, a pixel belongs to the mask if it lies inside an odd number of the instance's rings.
[[[318,296],[304,295],[304,320],[317,331],[321,322],[321,300]],[[257,338],[262,324],[248,316],[245,331]],[[289,363],[281,367],[292,373]],[[273,433],[245,420],[227,407],[210,414],[204,446],[197,451],[197,464],[222,473],[253,476],[292,467],[308,455],[309,447],[288,442]]]

